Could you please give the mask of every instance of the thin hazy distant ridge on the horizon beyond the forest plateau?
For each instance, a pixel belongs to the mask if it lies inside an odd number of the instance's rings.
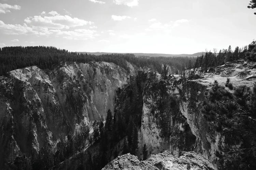
[[[93,55],[102,55],[102,54],[114,54],[114,53],[106,53],[106,52],[78,52],[78,53],[87,53]],[[127,54],[127,53],[117,53],[117,54]],[[158,53],[131,53],[135,56],[150,56],[150,57],[196,57],[201,56],[202,54],[205,55],[205,52],[198,52],[194,54],[158,54]],[[217,55],[217,54],[216,54]]]

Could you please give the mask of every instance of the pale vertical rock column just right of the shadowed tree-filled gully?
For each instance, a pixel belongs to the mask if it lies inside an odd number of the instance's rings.
[[[168,83],[168,95],[164,99],[167,102],[163,106],[163,113],[160,113],[159,108],[159,101],[162,100],[159,92],[153,93],[148,90],[149,88],[144,89],[142,123],[139,131],[140,153],[144,144],[150,154],[169,150],[175,156],[179,156],[180,151],[193,151],[195,148],[196,137],[178,106],[183,88],[182,79],[179,75],[171,75]],[[163,131],[163,124],[168,126],[167,132]],[[138,156],[142,158],[142,154]]]

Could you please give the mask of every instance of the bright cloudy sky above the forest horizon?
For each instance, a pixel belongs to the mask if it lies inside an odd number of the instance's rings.
[[[193,54],[256,38],[250,0],[0,0],[0,47]]]

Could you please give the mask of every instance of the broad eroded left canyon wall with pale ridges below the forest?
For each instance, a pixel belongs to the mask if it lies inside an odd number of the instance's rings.
[[[53,71],[36,66],[0,78],[0,160],[37,155],[60,138],[114,110],[115,90],[129,73],[106,62],[63,63]],[[1,167],[0,166],[0,167]]]

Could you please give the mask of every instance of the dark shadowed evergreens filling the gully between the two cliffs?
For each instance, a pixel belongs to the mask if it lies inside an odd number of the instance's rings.
[[[101,160],[100,163],[93,164],[95,169],[103,168],[118,155],[137,155],[143,106],[142,92],[146,81],[147,74],[142,71],[139,71],[136,77],[130,76],[128,84],[116,91],[114,116],[108,110],[105,121],[95,121],[94,145],[99,145],[101,151],[99,157],[95,158]],[[119,148],[114,148],[117,144]]]

